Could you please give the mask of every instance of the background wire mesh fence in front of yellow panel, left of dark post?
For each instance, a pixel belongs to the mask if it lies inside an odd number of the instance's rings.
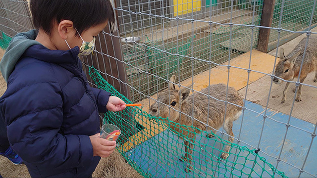
[[[221,3],[206,1],[204,2],[206,5],[200,1],[184,1],[178,2],[180,4],[176,5],[177,8],[172,3],[168,3],[167,5],[171,5],[162,8],[162,2],[162,0],[154,0],[151,3],[150,1],[142,3],[149,9],[136,7],[134,8],[136,11],[131,11],[131,8],[127,9],[125,6],[117,9],[119,21],[122,22],[120,29],[129,29],[121,31],[125,61],[161,78],[168,78],[168,75],[176,74],[178,71],[181,81],[190,78],[193,75],[192,62],[188,57],[195,56],[215,63],[227,61],[230,37],[233,39],[231,57],[249,51],[251,45],[249,42],[252,38],[251,29],[245,26],[231,28],[229,23],[260,25],[261,3],[256,3],[253,11],[251,1],[243,1],[232,6],[231,1]],[[130,1],[130,3],[132,2]],[[140,5],[136,0],[134,4]],[[161,4],[161,6],[158,9],[151,9],[152,4]],[[187,8],[191,9],[191,6],[194,7],[198,4],[201,4],[200,10],[197,10],[197,7],[189,13],[186,11]],[[159,9],[160,11],[157,13]],[[187,12],[186,18],[182,17],[184,11]],[[129,23],[131,19],[136,19],[136,21]],[[210,21],[227,25],[210,23]],[[255,30],[253,36],[253,47],[256,47],[258,30]],[[181,56],[173,55],[175,53]],[[202,60],[194,60],[193,63],[194,75],[208,69],[207,63]],[[139,77],[140,80],[147,79],[147,76],[143,75],[144,73],[138,73],[133,68],[128,67],[127,72],[130,83]],[[166,87],[166,85],[162,85],[161,80],[151,79],[150,81],[153,81],[150,85],[139,86],[141,92],[151,95],[157,92],[157,89],[161,90]],[[138,98],[138,95],[133,95],[134,101],[140,99],[144,99],[144,97]]]

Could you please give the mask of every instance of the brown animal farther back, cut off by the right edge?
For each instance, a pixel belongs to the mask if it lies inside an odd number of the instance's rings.
[[[283,80],[292,81],[294,78],[298,78],[301,63],[303,60],[303,54],[305,50],[307,38],[304,38],[286,57],[284,55],[284,49],[280,49],[280,61],[276,65],[275,76]],[[308,41],[304,63],[300,75],[300,82],[303,83],[307,75],[311,72],[315,73],[314,82],[317,82],[317,37],[311,36]],[[275,84],[280,84],[281,80],[274,77],[273,82]],[[286,91],[289,86],[289,82],[283,90],[282,103],[286,100]],[[296,88],[293,90],[296,91]],[[302,85],[299,86],[296,101],[302,100]]]

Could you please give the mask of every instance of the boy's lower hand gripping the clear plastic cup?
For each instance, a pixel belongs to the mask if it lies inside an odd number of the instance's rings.
[[[115,141],[109,141],[100,137],[100,134],[89,136],[91,144],[93,145],[94,156],[103,158],[108,157],[115,149]]]

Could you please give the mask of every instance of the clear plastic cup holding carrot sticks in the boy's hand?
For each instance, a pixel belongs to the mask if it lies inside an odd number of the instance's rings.
[[[100,137],[110,141],[116,141],[120,136],[121,131],[118,127],[112,124],[104,124],[101,127]]]

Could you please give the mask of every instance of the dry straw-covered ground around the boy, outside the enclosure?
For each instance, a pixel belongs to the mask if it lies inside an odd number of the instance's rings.
[[[0,60],[4,50],[0,48]],[[6,83],[0,74],[0,96],[6,90]],[[25,165],[13,165],[8,159],[0,156],[0,174],[4,178],[27,178],[30,174]],[[118,151],[114,151],[109,157],[102,158],[96,171],[93,173],[94,178],[140,178],[142,177],[135,171],[121,156]]]

